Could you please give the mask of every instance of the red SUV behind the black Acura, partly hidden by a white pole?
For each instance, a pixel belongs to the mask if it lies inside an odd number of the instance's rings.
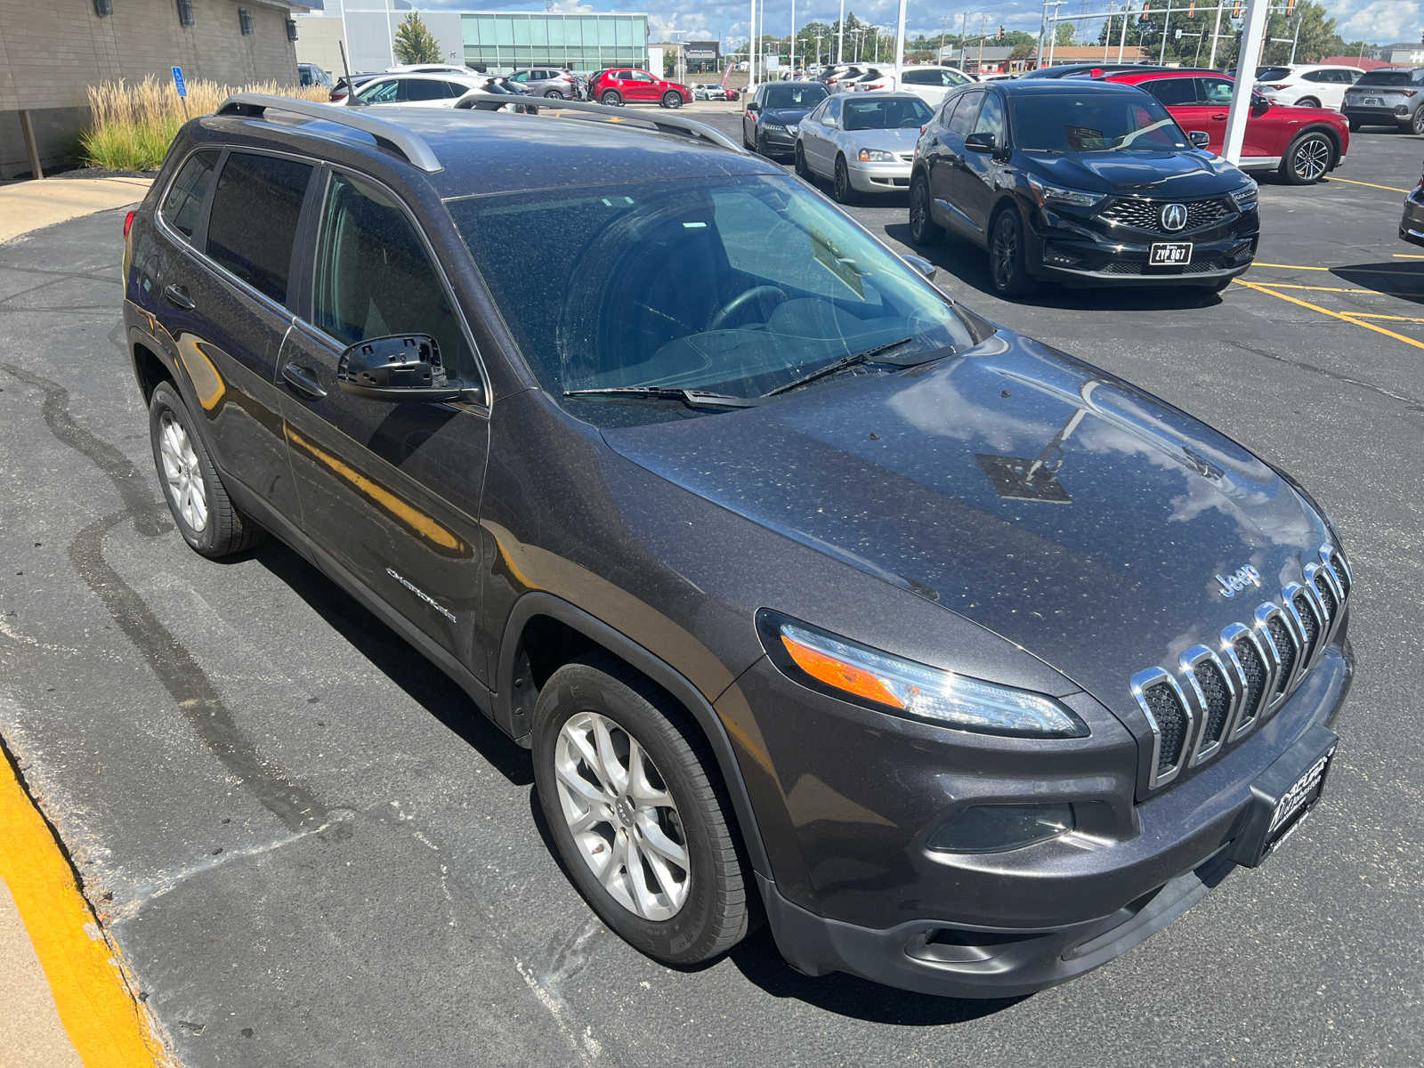
[[[1156,97],[1189,134],[1206,132],[1206,147],[1220,155],[1233,80],[1215,70],[1114,71],[1104,81],[1122,81]],[[1272,104],[1252,94],[1242,142],[1243,171],[1279,171],[1294,185],[1323,178],[1344,159],[1350,128],[1339,111]]]

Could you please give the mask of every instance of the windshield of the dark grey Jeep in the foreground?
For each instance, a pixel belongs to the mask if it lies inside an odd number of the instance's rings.
[[[488,194],[446,206],[555,394],[665,386],[758,397],[884,342],[910,339],[893,357],[913,362],[984,336],[789,175]],[[637,402],[567,403],[597,420]]]

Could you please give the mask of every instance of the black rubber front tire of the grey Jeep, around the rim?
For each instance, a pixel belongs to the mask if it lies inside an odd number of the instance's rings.
[[[582,712],[612,721],[655,765],[676,803],[688,856],[686,899],[666,920],[621,904],[584,859],[564,816],[554,769],[564,723]],[[591,654],[555,671],[540,691],[533,722],[538,802],[574,886],[625,941],[665,964],[696,964],[725,953],[750,926],[748,879],[706,745],[688,715],[621,661]],[[627,870],[627,869],[625,869]]]

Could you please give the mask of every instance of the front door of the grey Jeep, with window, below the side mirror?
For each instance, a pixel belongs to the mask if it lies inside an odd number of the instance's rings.
[[[320,205],[309,320],[282,349],[303,525],[319,553],[483,678],[474,632],[487,409],[372,400],[336,380],[346,346],[400,333],[433,336],[451,382],[487,389],[410,215],[380,187],[333,172]]]

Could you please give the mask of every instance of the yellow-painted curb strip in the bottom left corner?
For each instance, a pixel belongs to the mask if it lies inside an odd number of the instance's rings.
[[[85,1068],[154,1068],[161,1048],[44,819],[0,756],[0,877]],[[95,934],[91,934],[95,931]]]

